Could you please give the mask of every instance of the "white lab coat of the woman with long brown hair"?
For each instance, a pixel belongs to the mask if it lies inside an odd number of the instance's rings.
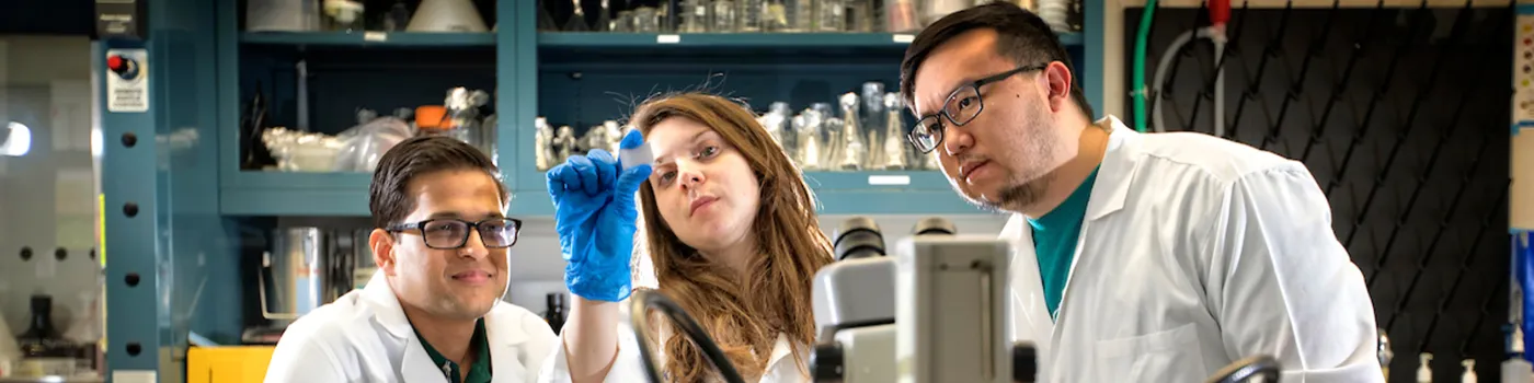
[[[627,319],[629,302],[624,300],[620,302],[620,305],[623,308],[620,309],[623,311],[621,317]],[[667,328],[669,326],[661,326],[660,342],[657,342],[657,345],[664,345],[666,339],[670,337],[670,332],[666,331]],[[560,334],[561,334],[560,345],[563,345],[563,334],[566,332],[560,331]],[[634,383],[647,380],[647,377],[644,375],[644,365],[641,365],[644,363],[644,360],[640,355],[638,346],[640,343],[634,337],[634,329],[626,323],[618,323],[618,355],[612,362],[612,368],[607,369],[607,378],[603,380],[604,383],[620,383],[620,381]],[[758,378],[756,381],[810,383],[811,381],[810,375],[807,375],[810,371],[808,346],[799,345],[798,348],[801,349],[801,354],[805,358],[804,363],[795,362],[793,342],[790,342],[788,337],[784,334],[778,334],[778,343],[773,345],[772,355],[767,357],[767,369],[762,372],[762,377]],[[666,351],[661,349],[661,346],[657,346],[653,351],[655,351],[655,368],[664,368]],[[543,362],[543,369],[542,372],[538,372],[538,375],[542,377],[540,381],[543,383],[571,381],[571,369],[568,363],[569,362],[566,360],[565,348],[560,346],[552,357]],[[739,368],[736,368],[736,371]],[[666,371],[661,371],[661,374],[666,374]]]

